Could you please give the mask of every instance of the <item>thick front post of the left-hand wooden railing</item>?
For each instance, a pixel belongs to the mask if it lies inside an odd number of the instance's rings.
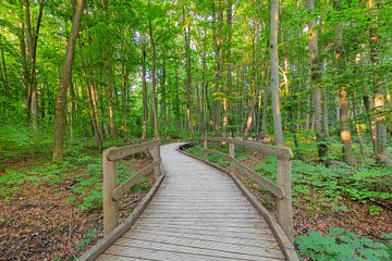
[[[113,200],[117,187],[117,162],[108,159],[110,148],[103,150],[103,236],[107,236],[119,225],[119,202]]]

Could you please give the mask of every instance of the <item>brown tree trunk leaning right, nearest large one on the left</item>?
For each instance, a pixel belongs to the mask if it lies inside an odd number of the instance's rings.
[[[75,15],[72,22],[72,29],[68,41],[63,69],[61,71],[60,87],[56,103],[53,160],[62,160],[63,132],[65,126],[66,112],[66,89],[71,82],[72,61],[74,57],[77,34],[81,27],[84,3],[84,0],[77,1]]]

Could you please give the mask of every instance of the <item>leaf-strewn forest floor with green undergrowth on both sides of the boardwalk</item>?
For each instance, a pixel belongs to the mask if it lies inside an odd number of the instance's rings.
[[[0,151],[8,149],[0,156],[0,260],[73,260],[102,237],[101,153],[91,140],[78,140],[68,145],[59,163],[51,161],[50,137],[19,135],[9,139],[1,140],[0,135]],[[382,251],[392,253],[391,166],[376,166],[371,158],[348,166],[339,160],[340,145],[332,145],[332,165],[326,167],[315,160],[313,144],[310,139],[302,140],[301,159],[292,161],[294,229],[301,257],[319,260],[320,254],[320,260],[336,260],[336,256],[328,254],[355,248],[354,254],[364,251],[362,256],[367,257],[366,251],[370,251],[381,258],[368,260],[385,260]],[[226,147],[211,148],[228,152]],[[188,150],[203,156],[199,146]],[[391,146],[389,150],[392,152]],[[236,158],[260,175],[275,179],[274,158],[240,148]],[[119,162],[120,182],[150,160],[138,156]],[[209,160],[229,166],[222,158],[210,156]],[[244,175],[240,177],[273,212],[273,197]],[[152,177],[143,179],[123,198],[121,219],[133,211],[152,182]]]

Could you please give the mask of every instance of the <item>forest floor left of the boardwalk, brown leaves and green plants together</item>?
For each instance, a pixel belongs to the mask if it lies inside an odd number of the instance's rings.
[[[119,164],[120,181],[150,159]],[[74,147],[61,163],[50,153],[1,159],[0,260],[74,260],[102,237],[101,153]],[[143,179],[122,199],[126,217],[152,184]]]

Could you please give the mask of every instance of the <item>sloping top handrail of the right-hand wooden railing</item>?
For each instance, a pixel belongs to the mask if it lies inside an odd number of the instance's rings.
[[[260,151],[264,154],[274,156],[280,159],[291,160],[293,158],[293,152],[290,148],[285,146],[271,146],[271,145],[265,145],[259,144],[255,141],[249,140],[241,140],[241,139],[234,139],[234,138],[219,138],[219,137],[211,137],[207,138],[208,141],[215,141],[215,142],[228,142],[228,144],[234,144],[237,146],[243,146],[248,149]]]

